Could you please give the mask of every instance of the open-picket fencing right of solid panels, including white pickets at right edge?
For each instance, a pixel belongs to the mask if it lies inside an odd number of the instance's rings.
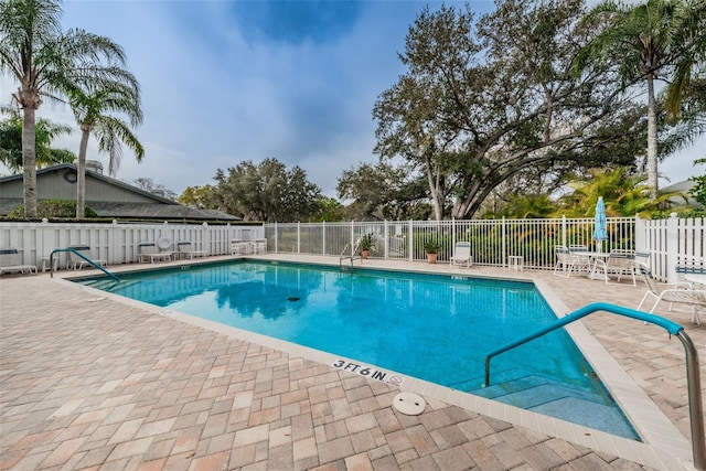
[[[371,257],[424,260],[424,244],[439,246],[438,260],[448,261],[457,242],[471,243],[478,265],[502,267],[509,256],[522,256],[528,269],[553,269],[556,245],[586,245],[598,249],[592,239],[595,221],[554,220],[471,220],[471,221],[384,221],[346,223],[266,224],[268,250],[276,253],[339,256],[346,245],[352,250],[364,234],[376,240]],[[600,249],[646,250],[653,275],[674,281],[674,267],[681,261],[704,264],[704,220],[646,221],[639,217],[607,218],[608,239]]]

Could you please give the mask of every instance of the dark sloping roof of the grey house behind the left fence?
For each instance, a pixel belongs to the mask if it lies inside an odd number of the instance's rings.
[[[76,172],[77,168],[73,163],[62,163],[36,170],[36,175],[51,172],[71,170]],[[115,218],[141,218],[141,220],[220,220],[220,221],[242,221],[240,217],[233,216],[217,210],[201,210],[197,207],[185,206],[168,197],[163,197],[149,191],[141,190],[129,183],[106,176],[98,172],[87,172],[87,176],[100,180],[109,185],[119,186],[132,193],[140,194],[143,199],[152,202],[119,202],[119,201],[86,201],[86,206],[94,210],[100,217]],[[9,175],[0,178],[0,184],[22,180],[22,174]],[[2,197],[0,199],[0,214],[9,214],[15,207],[24,202],[21,197]]]

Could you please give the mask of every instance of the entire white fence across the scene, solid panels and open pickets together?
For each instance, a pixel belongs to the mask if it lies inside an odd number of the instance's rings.
[[[267,239],[268,251],[340,256],[349,246],[353,250],[363,234],[376,240],[371,257],[391,260],[426,259],[424,244],[439,246],[438,260],[448,261],[457,242],[471,243],[478,265],[502,267],[507,257],[522,256],[526,269],[552,269],[556,263],[555,245],[586,245],[592,240],[593,218],[554,220],[471,220],[471,221],[383,221],[346,223],[291,223],[265,225],[207,224],[74,224],[0,223],[0,247],[14,247],[22,263],[42,267],[56,248],[88,245],[94,257],[110,265],[138,260],[138,245],[154,242],[163,250],[176,250],[178,242],[191,242],[194,250],[210,255],[231,254],[231,240]],[[651,254],[653,275],[676,281],[680,263],[706,264],[704,218],[646,221],[639,217],[609,217],[605,251],[613,248],[646,250]],[[352,254],[351,254],[352,255]],[[65,267],[65,255],[60,267]]]

